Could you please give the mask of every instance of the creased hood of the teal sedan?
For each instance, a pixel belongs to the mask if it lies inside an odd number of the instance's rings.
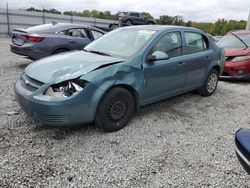
[[[75,51],[38,60],[25,69],[25,74],[40,82],[55,84],[123,61],[121,58]]]

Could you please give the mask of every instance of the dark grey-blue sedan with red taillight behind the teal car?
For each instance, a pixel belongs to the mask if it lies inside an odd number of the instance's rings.
[[[70,23],[51,23],[12,32],[11,52],[37,60],[52,54],[83,49],[105,31]]]

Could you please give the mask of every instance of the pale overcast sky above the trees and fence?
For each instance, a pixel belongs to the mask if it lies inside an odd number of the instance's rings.
[[[85,9],[149,12],[160,15],[182,15],[187,20],[214,22],[218,18],[247,20],[250,0],[0,0],[0,8],[55,8],[59,11]]]

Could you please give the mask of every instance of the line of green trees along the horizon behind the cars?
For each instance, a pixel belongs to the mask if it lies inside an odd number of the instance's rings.
[[[118,20],[120,12],[112,14],[110,11],[99,11],[99,10],[84,10],[82,12],[78,11],[65,11],[60,12],[56,9],[36,9],[34,7],[30,7],[26,9],[27,11],[37,11],[37,12],[46,12],[53,14],[61,14],[61,15],[70,15],[70,16],[82,16],[82,17],[95,17],[101,19],[109,19],[109,20]],[[143,12],[144,16],[149,19],[154,19],[157,24],[160,25],[180,25],[187,27],[195,27],[202,29],[203,31],[210,33],[211,35],[225,35],[230,30],[237,29],[245,29],[247,22],[244,20],[226,20],[226,19],[218,19],[214,23],[205,23],[205,22],[193,22],[191,20],[185,22],[184,18],[181,15],[169,16],[162,15],[159,18],[155,19],[150,13]]]

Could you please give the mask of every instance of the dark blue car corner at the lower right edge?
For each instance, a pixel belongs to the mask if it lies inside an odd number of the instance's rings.
[[[235,134],[235,151],[240,164],[250,175],[250,130],[240,129]]]

